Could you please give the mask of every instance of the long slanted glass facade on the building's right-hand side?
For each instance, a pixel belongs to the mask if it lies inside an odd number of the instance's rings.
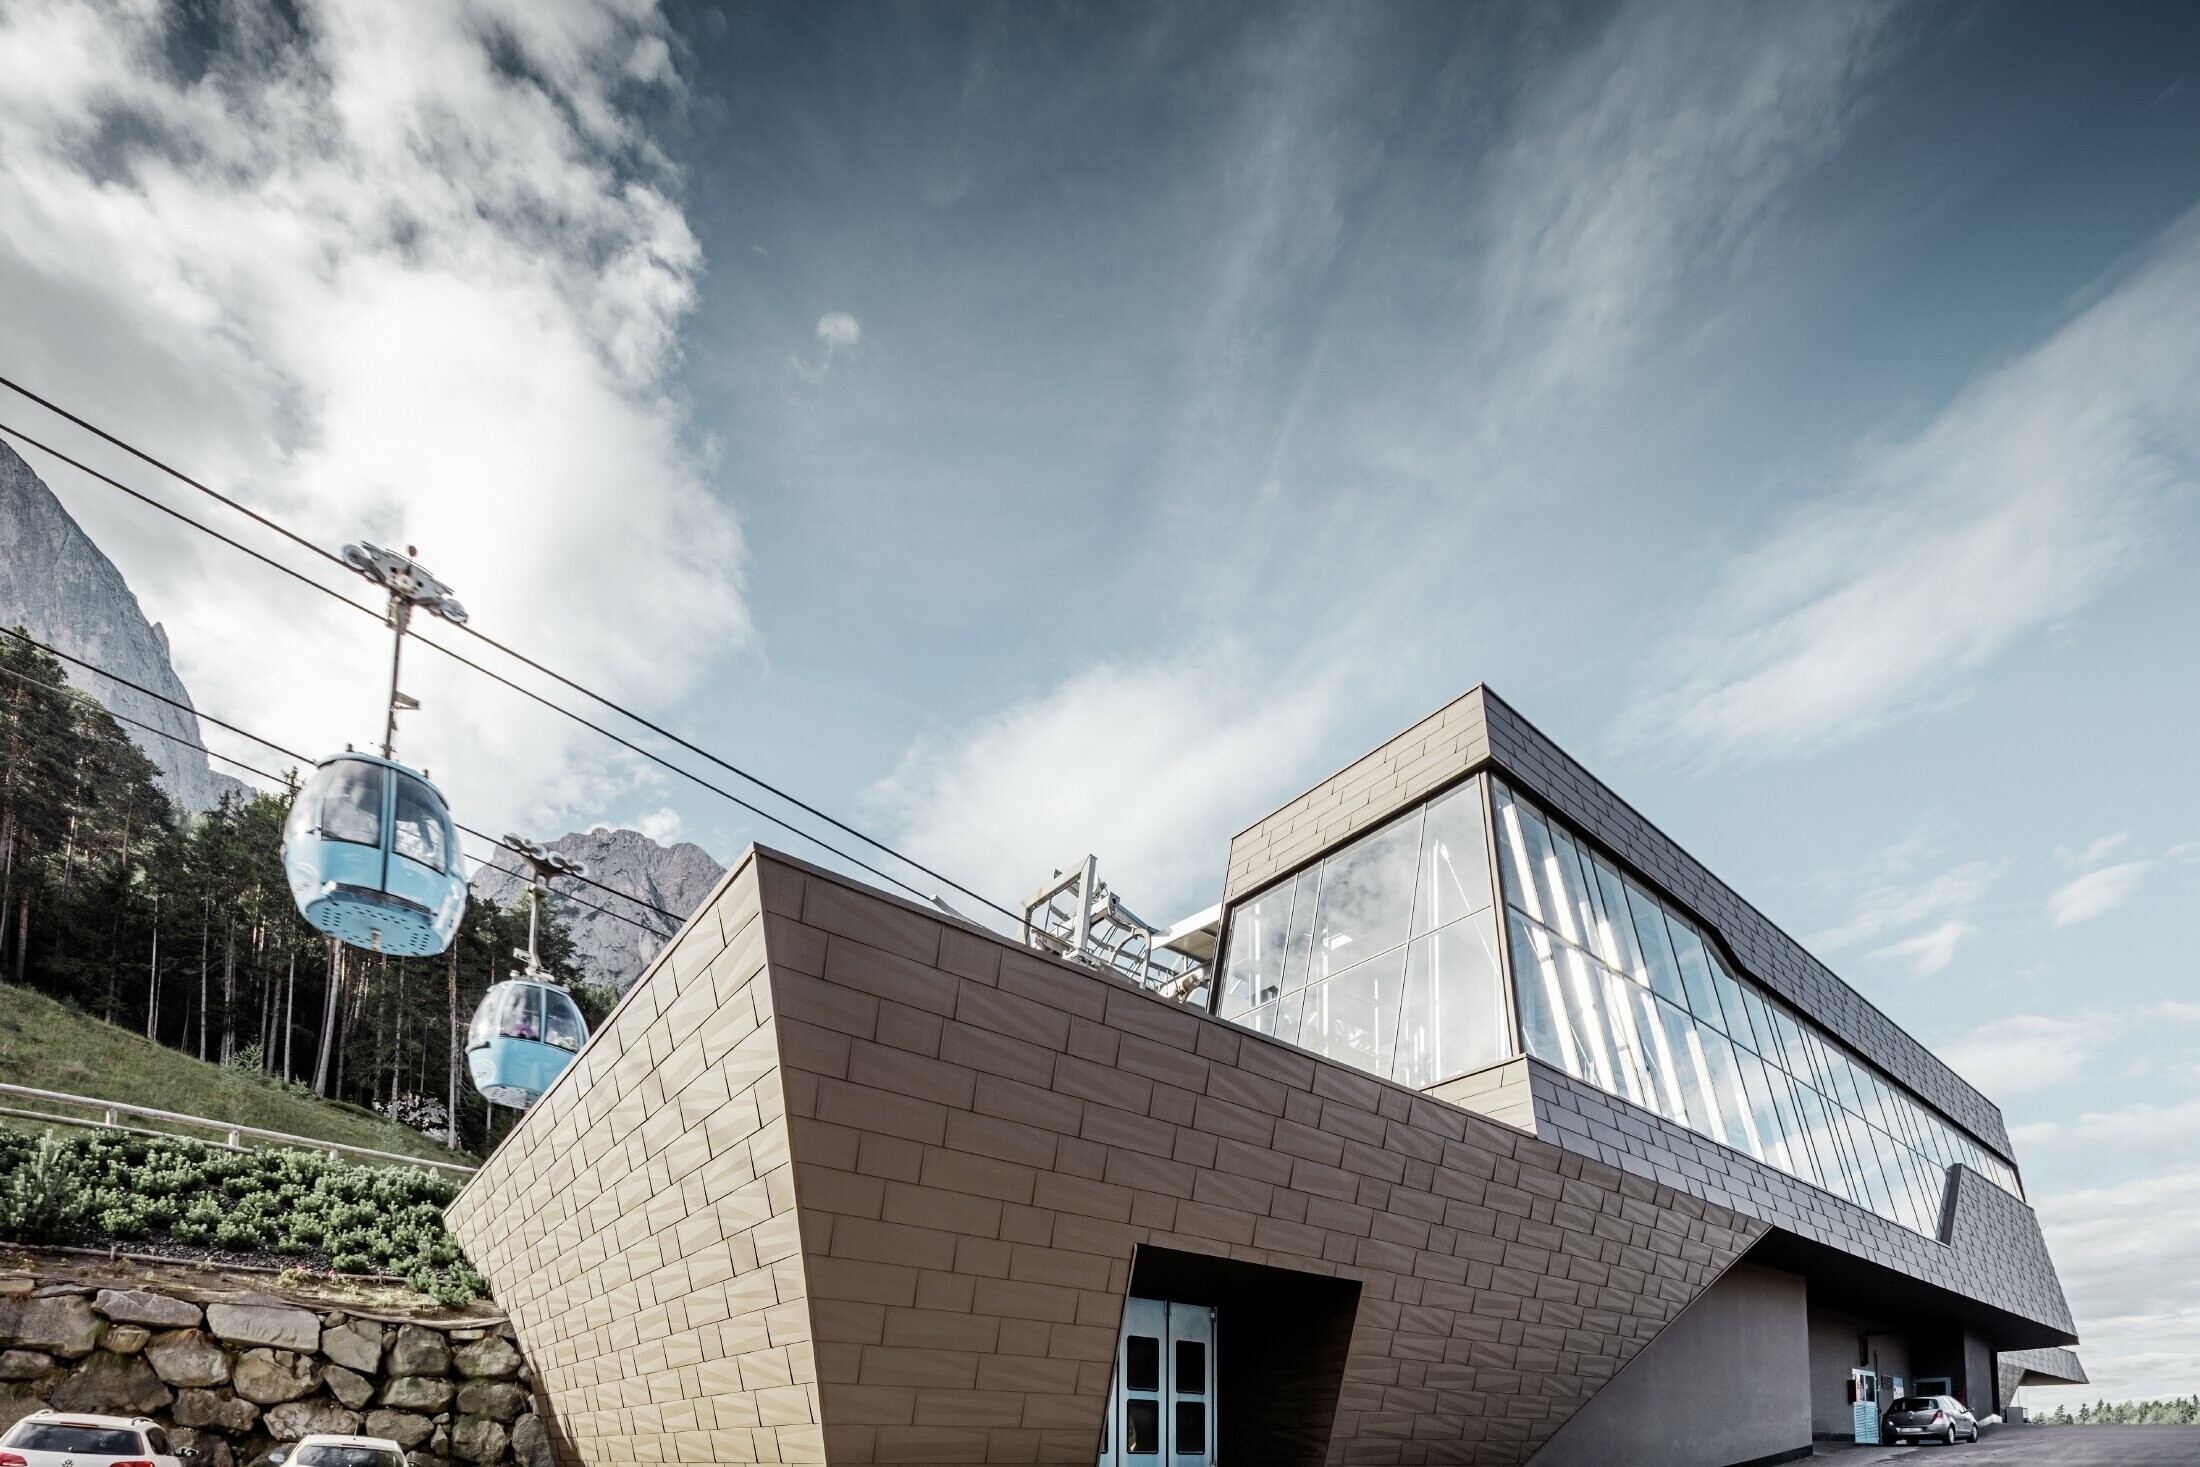
[[[1925,1236],[1956,1161],[2017,1192],[2006,1161],[1736,977],[1503,781],[1492,816],[1531,1056]]]

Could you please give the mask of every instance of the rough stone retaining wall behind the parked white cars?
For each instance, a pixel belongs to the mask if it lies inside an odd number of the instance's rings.
[[[266,1293],[0,1278],[0,1427],[42,1408],[152,1416],[194,1467],[308,1432],[387,1436],[411,1467],[550,1467],[510,1324],[387,1324]]]

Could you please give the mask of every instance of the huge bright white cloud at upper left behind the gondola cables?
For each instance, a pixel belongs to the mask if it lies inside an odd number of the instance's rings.
[[[702,271],[642,125],[669,55],[647,2],[9,4],[11,376],[321,545],[420,545],[477,627],[614,695],[678,697],[752,633],[739,528],[669,387]],[[31,457],[205,708],[306,748],[374,732],[367,618]],[[469,823],[550,823],[634,779],[431,653],[405,682],[425,713],[400,754]]]

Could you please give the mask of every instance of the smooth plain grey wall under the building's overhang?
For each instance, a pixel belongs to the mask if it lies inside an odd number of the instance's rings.
[[[1811,1447],[1808,1298],[1740,1262],[1573,1414],[1533,1467],[1720,1467]]]

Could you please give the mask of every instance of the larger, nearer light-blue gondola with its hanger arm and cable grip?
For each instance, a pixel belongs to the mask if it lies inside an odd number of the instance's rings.
[[[398,688],[414,611],[464,625],[466,607],[411,556],[345,545],[343,563],[389,592],[389,699],[383,752],[345,746],[323,759],[290,801],[282,864],[299,915],[330,937],[394,957],[433,957],[466,915],[458,831],[442,792],[396,759],[398,710],[420,702]]]

